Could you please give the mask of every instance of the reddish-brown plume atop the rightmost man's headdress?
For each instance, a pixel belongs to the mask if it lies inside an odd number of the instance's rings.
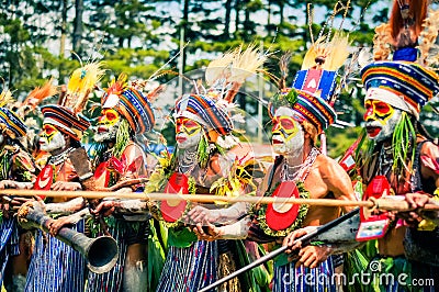
[[[389,24],[392,44],[396,48],[415,47],[423,31],[423,22],[427,16],[427,5],[428,0],[395,0],[393,2]]]

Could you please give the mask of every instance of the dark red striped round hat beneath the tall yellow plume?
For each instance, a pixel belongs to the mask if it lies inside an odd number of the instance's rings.
[[[90,126],[90,122],[85,116],[63,105],[44,105],[42,106],[42,113],[45,124],[55,126],[58,131],[76,141],[80,141],[82,132]]]

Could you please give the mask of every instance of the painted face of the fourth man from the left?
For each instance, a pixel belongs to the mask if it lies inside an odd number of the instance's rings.
[[[187,117],[176,121],[176,139],[180,149],[195,148],[201,139],[201,125]]]

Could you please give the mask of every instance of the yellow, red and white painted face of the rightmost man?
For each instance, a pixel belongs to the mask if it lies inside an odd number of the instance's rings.
[[[402,111],[379,100],[367,100],[364,106],[365,130],[369,138],[382,142],[392,137],[396,124],[401,121]]]

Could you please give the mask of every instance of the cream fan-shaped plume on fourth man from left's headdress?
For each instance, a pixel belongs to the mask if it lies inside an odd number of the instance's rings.
[[[267,56],[261,55],[255,45],[250,45],[243,52],[243,46],[235,50],[232,61],[230,77],[232,88],[228,90],[225,100],[232,102],[244,81],[256,74],[260,66],[266,61]]]

